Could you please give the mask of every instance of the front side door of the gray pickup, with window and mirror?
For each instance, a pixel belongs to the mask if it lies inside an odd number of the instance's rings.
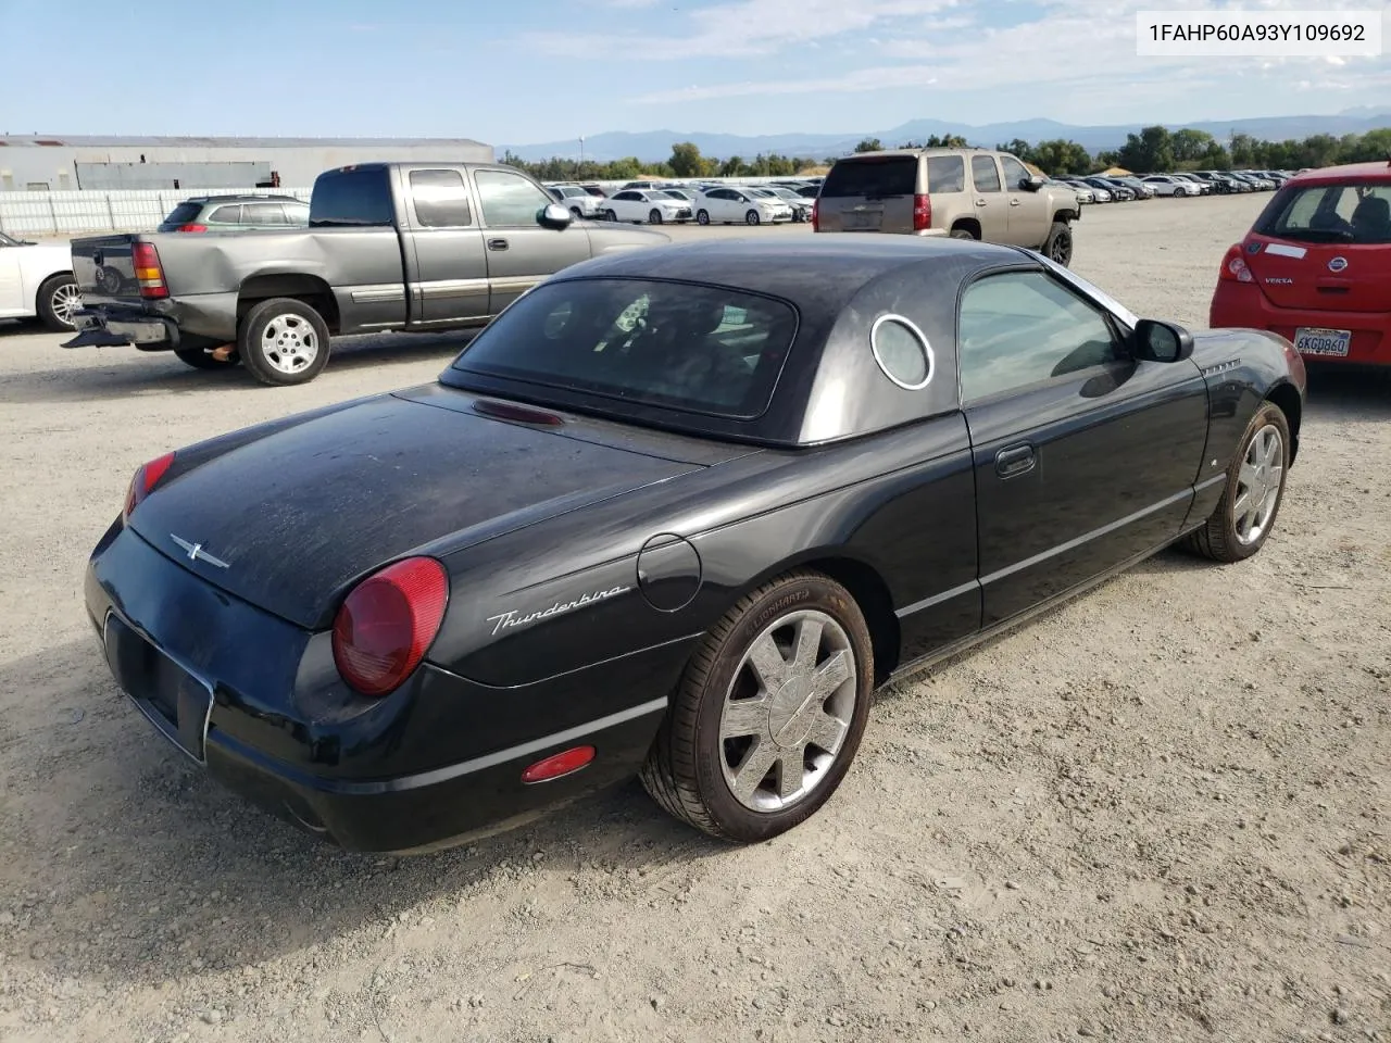
[[[542,228],[541,210],[551,197],[530,178],[510,170],[474,170],[488,259],[488,312],[498,314],[537,282],[590,257],[583,228]]]

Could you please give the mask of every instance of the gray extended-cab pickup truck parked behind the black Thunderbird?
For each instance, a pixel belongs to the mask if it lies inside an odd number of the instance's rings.
[[[561,268],[665,242],[576,221],[512,167],[366,163],[319,175],[307,229],[74,239],[83,307],[63,346],[172,350],[303,384],[331,335],[484,325]]]

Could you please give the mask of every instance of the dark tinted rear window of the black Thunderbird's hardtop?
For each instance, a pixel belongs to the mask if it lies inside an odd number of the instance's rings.
[[[601,407],[753,419],[768,409],[796,331],[790,305],[722,286],[544,282],[479,334],[453,369],[593,394]]]

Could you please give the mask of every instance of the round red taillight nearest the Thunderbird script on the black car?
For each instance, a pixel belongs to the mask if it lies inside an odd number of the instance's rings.
[[[440,633],[449,577],[434,558],[406,558],[353,587],[334,620],[334,663],[363,695],[385,695]]]

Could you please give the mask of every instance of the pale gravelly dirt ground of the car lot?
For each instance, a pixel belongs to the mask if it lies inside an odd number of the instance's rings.
[[[1264,199],[1091,207],[1074,266],[1199,327]],[[60,339],[0,328],[0,1039],[1391,1040],[1391,378],[1313,373],[1253,560],[1160,555],[883,693],[790,834],[708,841],[634,783],[398,861],[200,777],[81,577],[142,460],[459,341],[271,389]]]

